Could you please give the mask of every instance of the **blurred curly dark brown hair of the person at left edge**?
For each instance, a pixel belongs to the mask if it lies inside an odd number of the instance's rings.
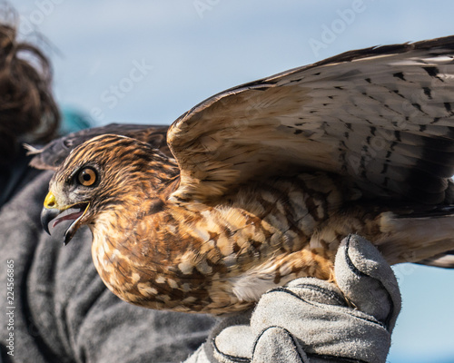
[[[19,42],[14,25],[0,24],[0,163],[56,134],[60,114],[51,91],[51,64],[34,44]]]

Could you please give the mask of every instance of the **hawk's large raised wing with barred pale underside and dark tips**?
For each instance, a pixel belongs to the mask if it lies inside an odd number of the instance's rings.
[[[454,174],[454,36],[350,51],[245,83],[177,119],[176,199],[306,170],[370,197],[445,201]]]

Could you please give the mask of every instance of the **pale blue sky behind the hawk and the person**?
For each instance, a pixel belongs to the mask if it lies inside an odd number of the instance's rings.
[[[172,123],[213,93],[351,49],[454,34],[452,1],[14,0],[59,102],[97,124]],[[396,268],[389,362],[454,362],[454,270]]]

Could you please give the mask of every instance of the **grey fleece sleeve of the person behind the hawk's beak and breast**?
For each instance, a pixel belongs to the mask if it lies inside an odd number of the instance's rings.
[[[15,356],[7,354],[7,331],[0,329],[2,358],[36,363],[186,358],[205,340],[212,318],[143,309],[115,297],[94,269],[90,231],[78,232],[66,247],[61,237],[42,231],[39,213],[49,177],[39,175],[0,212],[0,268],[14,260],[17,305]],[[5,286],[3,271],[0,277]],[[1,299],[4,305],[4,293]],[[0,316],[5,326],[5,314]]]

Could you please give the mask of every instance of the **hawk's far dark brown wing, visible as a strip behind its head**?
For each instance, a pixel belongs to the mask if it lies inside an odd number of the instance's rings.
[[[36,149],[29,145],[25,147],[29,150],[29,154],[35,155],[30,165],[37,169],[55,170],[77,145],[105,133],[129,136],[141,142],[148,142],[153,148],[159,149],[172,157],[165,140],[168,128],[169,126],[111,123],[106,126],[70,133],[49,142],[42,149]]]

